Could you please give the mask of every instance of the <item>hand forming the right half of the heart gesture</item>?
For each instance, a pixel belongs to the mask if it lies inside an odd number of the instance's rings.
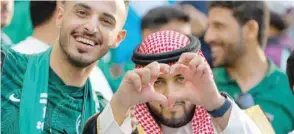
[[[185,90],[168,96],[170,105],[177,100],[187,100],[212,111],[224,104],[225,98],[217,90],[209,65],[198,53],[183,53],[171,66],[170,73],[183,75],[186,86]]]

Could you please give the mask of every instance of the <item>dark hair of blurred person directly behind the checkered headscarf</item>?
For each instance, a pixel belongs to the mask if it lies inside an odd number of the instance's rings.
[[[156,7],[143,16],[141,29],[157,29],[171,20],[189,22],[190,17],[179,8],[171,6]]]

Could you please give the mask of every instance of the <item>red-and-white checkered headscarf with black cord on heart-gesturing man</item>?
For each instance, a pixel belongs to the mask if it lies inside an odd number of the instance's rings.
[[[153,61],[172,65],[184,52],[195,52],[203,57],[200,46],[199,40],[190,35],[175,31],[160,31],[149,35],[140,44],[135,50],[132,60],[136,64],[136,68],[144,67]],[[146,104],[135,106],[135,116],[146,134],[162,134]],[[211,117],[201,106],[196,106],[191,124],[193,134],[214,133]]]

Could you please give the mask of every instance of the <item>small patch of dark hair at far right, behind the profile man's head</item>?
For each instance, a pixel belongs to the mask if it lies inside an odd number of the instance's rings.
[[[286,23],[283,20],[283,17],[274,12],[270,12],[270,24],[280,31],[283,31],[287,28]]]

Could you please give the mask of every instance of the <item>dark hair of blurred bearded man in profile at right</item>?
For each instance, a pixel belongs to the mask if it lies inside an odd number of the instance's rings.
[[[250,20],[258,23],[258,42],[263,48],[267,41],[267,28],[269,25],[269,10],[264,1],[212,1],[209,9],[213,7],[223,7],[232,10],[233,16],[240,25],[246,24]]]

